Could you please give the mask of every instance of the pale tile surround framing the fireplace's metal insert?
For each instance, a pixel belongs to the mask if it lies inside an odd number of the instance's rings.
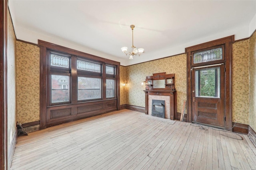
[[[170,96],[156,96],[148,95],[148,115],[152,115],[152,100],[164,100],[165,101],[165,119],[170,119]]]

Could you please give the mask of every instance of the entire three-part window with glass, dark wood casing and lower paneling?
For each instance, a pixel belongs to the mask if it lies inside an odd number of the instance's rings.
[[[41,40],[38,45],[40,128],[120,108],[118,61]]]

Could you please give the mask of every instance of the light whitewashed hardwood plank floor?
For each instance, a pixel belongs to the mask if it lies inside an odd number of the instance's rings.
[[[19,136],[11,170],[256,169],[256,148],[239,135],[124,109]]]

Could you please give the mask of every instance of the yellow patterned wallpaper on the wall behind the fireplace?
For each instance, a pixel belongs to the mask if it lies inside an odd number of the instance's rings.
[[[146,63],[126,67],[126,104],[145,107],[145,85],[141,85],[146,76],[153,73],[175,74],[177,91],[177,112],[181,112],[183,100],[186,100],[186,54],[176,55]]]

